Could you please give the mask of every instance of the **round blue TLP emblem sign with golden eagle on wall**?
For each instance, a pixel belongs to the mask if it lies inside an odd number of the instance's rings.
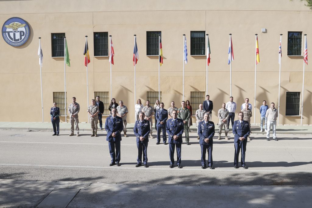
[[[2,26],[2,37],[11,46],[22,46],[28,41],[29,36],[28,23],[19,17],[8,19]]]

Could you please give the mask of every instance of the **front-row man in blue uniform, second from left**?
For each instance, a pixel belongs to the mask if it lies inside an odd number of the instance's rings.
[[[133,132],[137,137],[137,147],[138,147],[138,164],[135,167],[140,167],[142,165],[142,152],[144,158],[144,167],[149,167],[147,165],[147,145],[149,144],[149,133],[151,131],[150,124],[148,120],[144,119],[145,114],[139,113],[139,120],[135,122]]]

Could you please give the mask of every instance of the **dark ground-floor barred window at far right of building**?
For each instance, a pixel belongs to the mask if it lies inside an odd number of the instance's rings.
[[[300,92],[286,92],[286,116],[300,115]]]

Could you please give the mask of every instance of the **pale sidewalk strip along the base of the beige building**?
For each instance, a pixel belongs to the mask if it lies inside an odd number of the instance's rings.
[[[98,124],[99,125],[99,124]],[[215,123],[216,131],[219,130],[218,125]],[[134,123],[128,123],[127,129],[132,130]],[[90,123],[79,123],[80,131],[91,131]],[[51,122],[0,122],[0,129],[2,130],[37,130],[37,131],[53,131]],[[70,123],[60,123],[60,131],[70,131]],[[197,131],[195,125],[190,127],[190,130],[195,133]],[[105,132],[105,129],[98,131]],[[260,132],[260,126],[251,125],[252,134],[266,134]],[[229,129],[232,133],[232,129]],[[312,135],[312,125],[278,125],[276,128],[277,134],[294,134],[294,135]],[[222,131],[224,134],[224,130]]]

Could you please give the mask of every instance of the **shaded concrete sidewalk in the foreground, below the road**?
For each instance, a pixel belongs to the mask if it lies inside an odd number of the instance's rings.
[[[1,179],[0,207],[305,208],[311,206],[311,192],[312,186],[181,186]]]

